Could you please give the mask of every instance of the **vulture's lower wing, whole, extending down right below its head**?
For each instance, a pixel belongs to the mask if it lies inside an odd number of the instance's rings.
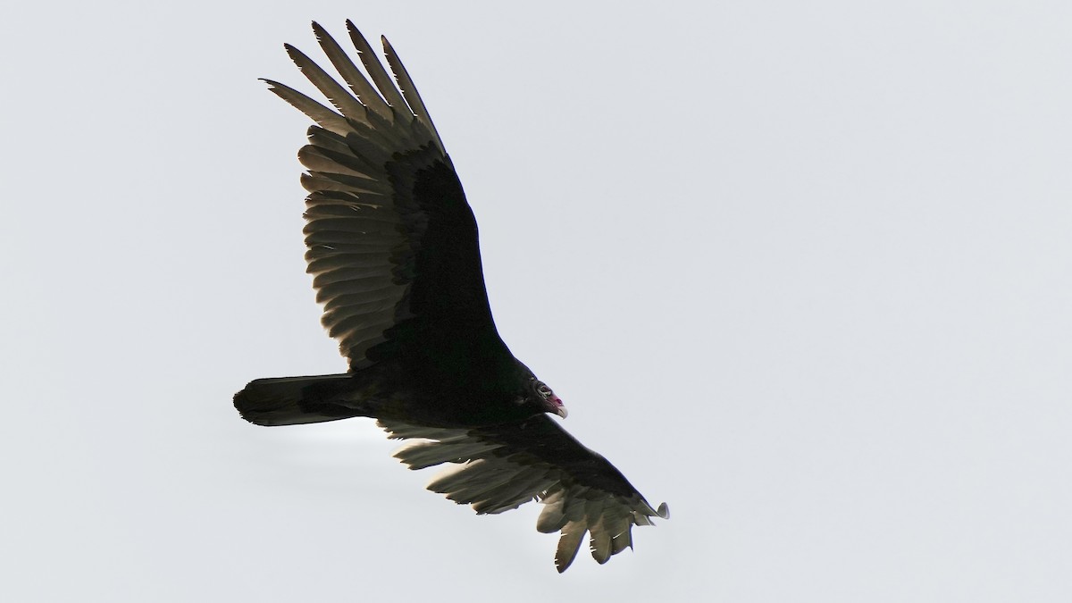
[[[632,526],[669,517],[666,503],[653,509],[625,476],[598,453],[567,433],[547,414],[522,423],[452,429],[379,420],[391,438],[428,440],[394,454],[411,469],[442,462],[444,471],[428,489],[447,495],[477,513],[502,513],[537,499],[546,506],[536,521],[541,532],[562,531],[554,564],[564,572],[585,532],[592,557],[606,563],[632,547]]]

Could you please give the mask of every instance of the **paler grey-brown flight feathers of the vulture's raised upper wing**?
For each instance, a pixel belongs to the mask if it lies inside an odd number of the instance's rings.
[[[316,126],[298,153],[308,170],[306,245],[322,322],[339,341],[352,369],[372,364],[367,353],[385,341],[385,330],[404,318],[413,278],[419,210],[400,204],[387,165],[399,157],[449,164],[443,143],[398,56],[383,40],[399,90],[369,43],[351,21],[349,38],[368,76],[317,24],[317,41],[339,74],[328,74],[297,48],[291,58],[328,99],[326,106],[283,84],[271,90]],[[371,80],[371,82],[370,82]],[[341,82],[341,83],[340,83]],[[410,153],[410,155],[407,155]]]

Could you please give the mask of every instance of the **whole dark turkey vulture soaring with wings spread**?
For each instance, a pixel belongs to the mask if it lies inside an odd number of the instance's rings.
[[[653,509],[548,416],[565,418],[566,409],[498,337],[476,220],[425,103],[386,38],[398,87],[354,24],[346,27],[368,78],[313,24],[345,86],[285,45],[334,108],[265,82],[316,122],[298,152],[308,168],[306,260],[324,326],[349,369],[257,379],[235,395],[235,408],[257,425],[373,417],[390,438],[416,440],[394,455],[411,469],[458,465],[429,489],[480,514],[542,502],[536,529],[562,532],[559,572],[585,533],[605,563],[631,548],[634,525],[668,517],[666,503]]]

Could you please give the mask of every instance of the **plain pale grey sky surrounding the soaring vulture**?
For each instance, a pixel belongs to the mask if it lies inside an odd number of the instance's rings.
[[[0,19],[0,599],[1072,600],[1072,4],[700,6]],[[233,410],[344,369],[308,120],[256,78],[308,90],[282,43],[346,17],[430,108],[504,339],[670,503],[635,551],[559,576],[536,504]]]

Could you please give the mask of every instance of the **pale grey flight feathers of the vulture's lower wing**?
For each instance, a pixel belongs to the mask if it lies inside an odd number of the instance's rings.
[[[544,503],[536,529],[561,532],[554,556],[559,572],[572,563],[586,533],[591,534],[592,557],[606,563],[632,547],[632,526],[650,526],[652,517],[669,516],[666,503],[653,509],[631,486],[627,492],[610,492],[584,483],[582,475],[568,468],[494,438],[493,429],[422,427],[385,420],[378,425],[390,438],[420,440],[394,454],[411,469],[458,464],[437,474],[428,489],[459,504],[471,504],[486,514],[517,509],[531,500]]]

